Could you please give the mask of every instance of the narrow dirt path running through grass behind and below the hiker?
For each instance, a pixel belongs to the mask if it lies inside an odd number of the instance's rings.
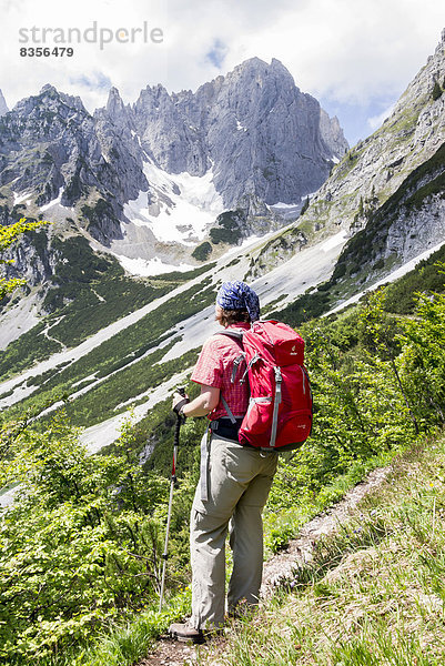
[[[299,536],[292,539],[286,548],[266,562],[261,586],[262,598],[271,596],[274,588],[293,577],[293,572],[296,568],[310,562],[317,541],[322,536],[333,534],[338,525],[347,519],[352,509],[357,506],[361,500],[385,481],[390,471],[391,467],[380,467],[371,472],[365,481],[348,491],[341,502],[306,523]],[[155,650],[140,662],[138,666],[196,666],[199,663],[198,650],[201,655],[205,655],[209,649],[210,647],[205,645],[196,648],[189,644],[171,640],[168,636],[162,636]]]

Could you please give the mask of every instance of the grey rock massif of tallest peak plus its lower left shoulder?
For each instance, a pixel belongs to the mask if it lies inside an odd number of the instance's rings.
[[[132,112],[150,159],[169,173],[199,176],[213,164],[227,208],[246,195],[299,202],[348,148],[338,122],[277,59],[250,58],[194,93],[149,85]]]

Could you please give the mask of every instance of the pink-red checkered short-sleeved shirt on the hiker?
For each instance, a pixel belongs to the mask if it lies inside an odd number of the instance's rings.
[[[250,324],[232,324],[229,329],[245,329]],[[232,370],[234,360],[242,354],[241,345],[227,335],[213,335],[203,344],[198,363],[192,372],[192,381],[196,384],[220,389],[234,416],[244,416],[249,404],[247,383],[240,384],[240,379],[245,370],[244,363],[239,369],[235,382],[232,384]],[[227,416],[221,400],[216,407],[209,414],[211,421]]]

